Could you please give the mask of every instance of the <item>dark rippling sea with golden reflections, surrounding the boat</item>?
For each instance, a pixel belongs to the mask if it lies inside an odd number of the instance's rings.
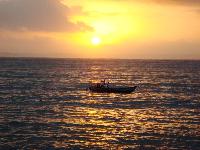
[[[139,85],[95,94],[89,82]],[[200,61],[0,58],[0,149],[200,149]]]

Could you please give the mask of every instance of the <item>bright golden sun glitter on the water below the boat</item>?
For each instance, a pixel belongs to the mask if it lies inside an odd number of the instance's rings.
[[[85,100],[85,104],[96,105],[98,103],[102,104],[104,101]],[[146,138],[159,140],[166,133],[187,136],[187,134],[192,134],[187,133],[188,129],[199,126],[181,125],[182,123],[187,123],[190,118],[185,118],[186,120],[180,118],[177,120],[179,114],[181,117],[182,112],[177,112],[177,110],[173,109],[158,111],[153,108],[146,110],[79,106],[72,108],[66,106],[60,109],[55,106],[54,111],[63,113],[64,118],[48,119],[48,122],[67,124],[64,129],[75,132],[75,136],[78,137],[78,139],[71,137],[72,143],[79,143],[85,146],[99,146],[102,148],[125,148],[126,146],[122,144],[122,141],[133,142]],[[166,114],[168,118],[166,118]],[[184,128],[185,130],[183,130]],[[58,148],[67,145],[69,146],[69,140],[54,143],[54,146]],[[132,145],[132,148],[137,148],[137,146]]]

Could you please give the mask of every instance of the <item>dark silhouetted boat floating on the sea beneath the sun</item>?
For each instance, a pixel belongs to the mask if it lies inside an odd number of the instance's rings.
[[[121,87],[121,86],[110,86],[106,83],[96,83],[89,86],[89,90],[95,93],[124,93],[130,94],[136,90],[137,86],[133,87]]]

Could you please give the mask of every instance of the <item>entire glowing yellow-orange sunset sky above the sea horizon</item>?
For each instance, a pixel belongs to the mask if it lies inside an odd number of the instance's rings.
[[[0,56],[200,59],[200,0],[0,0]]]

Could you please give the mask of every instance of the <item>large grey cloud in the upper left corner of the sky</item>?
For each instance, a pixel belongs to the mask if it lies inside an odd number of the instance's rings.
[[[68,16],[72,13],[59,0],[0,0],[0,29],[51,32],[93,30],[83,22],[71,22]]]

